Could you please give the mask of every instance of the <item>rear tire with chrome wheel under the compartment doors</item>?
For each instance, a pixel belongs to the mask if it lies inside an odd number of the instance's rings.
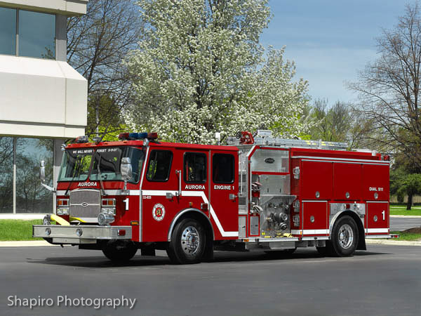
[[[350,216],[343,216],[333,226],[330,236],[333,256],[352,256],[358,245],[358,228],[354,219]]]

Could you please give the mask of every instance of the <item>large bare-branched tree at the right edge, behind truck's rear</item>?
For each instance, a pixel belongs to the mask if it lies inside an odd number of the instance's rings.
[[[359,93],[359,112],[377,129],[371,139],[401,152],[421,167],[421,12],[417,1],[406,6],[394,29],[377,39],[378,53],[350,88]]]

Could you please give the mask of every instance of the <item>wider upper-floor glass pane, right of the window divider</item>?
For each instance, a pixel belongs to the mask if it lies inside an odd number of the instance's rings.
[[[55,59],[55,15],[19,11],[19,55]]]

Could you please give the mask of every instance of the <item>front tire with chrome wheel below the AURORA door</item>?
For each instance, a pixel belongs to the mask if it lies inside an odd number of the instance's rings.
[[[175,225],[167,254],[175,264],[199,263],[205,244],[206,234],[202,225],[197,220],[185,218]]]

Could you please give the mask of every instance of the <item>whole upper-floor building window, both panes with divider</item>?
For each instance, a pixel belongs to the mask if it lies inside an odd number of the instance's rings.
[[[0,8],[0,54],[55,59],[55,15]]]

